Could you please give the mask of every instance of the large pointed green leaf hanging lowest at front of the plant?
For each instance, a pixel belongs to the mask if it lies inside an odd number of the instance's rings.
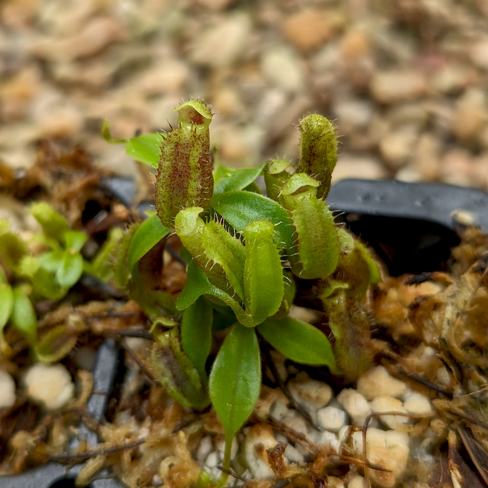
[[[219,349],[209,378],[210,398],[224,426],[226,444],[251,415],[260,388],[258,339],[252,328],[235,324]]]

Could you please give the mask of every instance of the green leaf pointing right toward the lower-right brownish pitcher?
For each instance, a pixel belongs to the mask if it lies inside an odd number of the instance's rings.
[[[313,325],[284,317],[267,319],[257,326],[259,333],[275,349],[297,363],[335,368],[329,340]]]

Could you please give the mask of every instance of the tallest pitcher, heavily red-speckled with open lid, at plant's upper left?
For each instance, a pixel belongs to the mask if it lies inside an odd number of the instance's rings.
[[[208,126],[210,106],[190,100],[176,109],[178,127],[166,135],[156,176],[156,210],[164,225],[188,206],[206,210],[212,199],[213,176]]]

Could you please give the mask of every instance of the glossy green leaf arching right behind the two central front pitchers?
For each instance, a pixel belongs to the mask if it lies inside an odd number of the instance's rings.
[[[255,220],[272,222],[275,225],[273,242],[280,247],[293,247],[295,237],[292,222],[279,203],[257,193],[239,190],[216,195],[212,206],[240,232]]]

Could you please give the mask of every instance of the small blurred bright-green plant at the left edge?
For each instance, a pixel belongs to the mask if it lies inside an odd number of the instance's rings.
[[[44,300],[60,301],[78,283],[82,273],[108,281],[112,275],[111,254],[122,237],[114,229],[91,262],[81,255],[88,236],[73,230],[48,203],[37,202],[30,213],[42,232],[24,242],[0,220],[0,352],[11,352],[4,329],[16,329],[42,362],[62,359],[75,345],[84,327],[77,321],[38,330],[35,305]],[[41,248],[34,254],[30,244]]]

